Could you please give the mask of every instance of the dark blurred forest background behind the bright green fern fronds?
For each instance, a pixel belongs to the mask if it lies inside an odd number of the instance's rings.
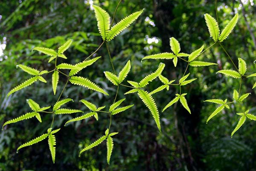
[[[60,77],[56,96],[52,93],[51,75],[48,82],[35,83],[9,98],[11,88],[30,76],[16,65],[29,65],[39,70],[51,70],[48,57],[32,51],[35,46],[57,49],[66,40],[73,39],[72,46],[65,52],[63,60],[75,64],[84,60],[102,43],[97,29],[92,5],[99,5],[113,17],[119,0],[1,0],[0,1],[0,125],[6,120],[29,112],[26,99],[33,99],[41,106],[53,105],[65,83]],[[143,60],[150,54],[170,52],[169,37],[180,42],[181,51],[191,53],[201,47],[209,47],[213,40],[209,37],[204,14],[215,15],[213,0],[122,0],[116,12],[114,23],[131,14],[145,9],[143,14],[128,29],[109,43],[113,64],[117,71],[131,60],[131,71],[126,80],[139,81],[153,72],[160,62],[166,64],[163,75],[169,80],[179,79],[186,63],[178,60],[177,67],[171,60]],[[224,47],[237,64],[237,57],[247,61],[247,72],[255,73],[256,64],[256,1],[218,0],[218,20],[221,30],[228,21],[239,13],[239,22],[224,41]],[[116,90],[104,76],[103,71],[112,71],[105,46],[96,53],[102,58],[81,71],[104,88],[110,96],[89,91],[81,86],[67,85],[62,98],[70,97],[75,103],[69,108],[88,111],[78,101],[86,99],[96,105],[113,102]],[[52,164],[47,141],[23,148],[16,154],[19,145],[41,134],[49,128],[52,115],[42,114],[42,123],[34,118],[7,125],[0,131],[0,171],[256,171],[256,122],[247,120],[233,138],[230,134],[239,116],[237,112],[250,109],[256,114],[255,90],[251,88],[256,79],[243,80],[242,93],[251,95],[240,104],[218,114],[206,124],[207,117],[218,105],[204,103],[203,100],[221,98],[232,100],[233,89],[239,89],[239,81],[215,74],[220,69],[232,69],[232,63],[218,45],[201,55],[200,60],[218,63],[218,66],[189,68],[191,77],[198,78],[183,87],[190,115],[178,103],[160,112],[162,133],[157,130],[153,117],[136,94],[123,95],[129,88],[121,87],[117,99],[126,98],[125,105],[134,107],[113,117],[111,131],[114,149],[110,165],[106,161],[105,142],[78,153],[84,145],[104,134],[109,117],[99,114],[64,127],[64,123],[74,115],[56,117],[54,128],[61,128],[56,135],[56,162]],[[127,83],[125,83],[127,85]],[[148,85],[151,91],[160,86],[154,80]],[[154,94],[159,111],[175,97],[177,87]]]

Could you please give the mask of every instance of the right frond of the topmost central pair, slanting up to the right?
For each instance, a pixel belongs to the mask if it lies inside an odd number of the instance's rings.
[[[130,24],[133,23],[140,16],[140,14],[142,12],[143,12],[143,10],[134,12],[134,13],[128,15],[127,17],[123,18],[118,23],[116,23],[116,25],[111,27],[110,31],[108,32],[106,40],[107,41],[112,40],[116,35],[118,35],[120,32],[122,32],[128,26],[130,26]]]

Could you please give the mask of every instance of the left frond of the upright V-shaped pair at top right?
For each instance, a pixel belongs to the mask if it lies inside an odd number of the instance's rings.
[[[210,14],[204,14],[204,19],[205,19],[205,22],[207,24],[210,37],[212,37],[212,39],[215,42],[217,42],[218,41],[218,36],[220,34],[220,29],[218,27],[217,21]]]

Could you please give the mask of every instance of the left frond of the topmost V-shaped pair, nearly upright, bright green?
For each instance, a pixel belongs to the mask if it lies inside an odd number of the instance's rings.
[[[95,12],[99,33],[101,34],[102,39],[105,41],[108,31],[110,29],[110,16],[108,12],[106,12],[99,6],[93,5],[93,9]]]

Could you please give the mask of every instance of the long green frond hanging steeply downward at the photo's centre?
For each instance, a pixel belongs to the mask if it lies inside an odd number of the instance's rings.
[[[159,111],[157,109],[157,105],[151,96],[147,91],[144,90],[138,90],[138,95],[140,99],[143,101],[143,103],[147,106],[149,111],[151,112],[155,123],[157,124],[158,130],[161,132],[161,125],[160,125],[160,117],[159,117]]]

